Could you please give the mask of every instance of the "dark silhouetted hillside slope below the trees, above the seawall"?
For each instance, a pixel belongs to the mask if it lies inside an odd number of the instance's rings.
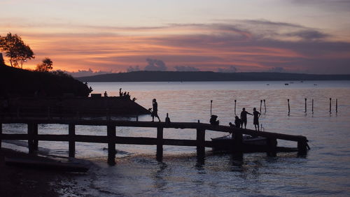
[[[1,64],[1,62],[0,62]],[[27,71],[2,64],[0,66],[0,96],[88,96],[90,89],[71,75],[60,71]]]

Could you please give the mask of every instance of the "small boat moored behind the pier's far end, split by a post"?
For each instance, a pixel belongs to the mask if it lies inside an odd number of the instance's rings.
[[[231,135],[219,138],[211,138],[211,141],[213,142],[214,151],[228,151],[235,143],[235,140],[232,139]],[[253,137],[244,135],[242,143],[244,152],[265,152],[267,138],[261,136]]]

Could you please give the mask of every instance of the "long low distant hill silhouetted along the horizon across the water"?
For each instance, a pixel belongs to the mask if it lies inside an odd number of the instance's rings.
[[[172,82],[172,81],[254,81],[254,80],[350,80],[350,75],[309,75],[299,73],[215,73],[210,71],[135,71],[77,78],[82,82]]]

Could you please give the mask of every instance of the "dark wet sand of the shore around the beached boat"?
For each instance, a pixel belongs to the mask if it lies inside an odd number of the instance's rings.
[[[0,150],[0,196],[60,196],[69,194],[70,187],[76,184],[73,173],[6,166],[4,158],[30,158],[40,161],[51,159],[31,156],[11,149]],[[74,196],[79,196],[75,194]]]

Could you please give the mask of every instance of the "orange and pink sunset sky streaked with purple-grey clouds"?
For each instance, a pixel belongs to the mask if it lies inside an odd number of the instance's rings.
[[[1,0],[18,34],[76,75],[126,71],[350,74],[350,0]],[[8,59],[5,57],[6,61]]]

